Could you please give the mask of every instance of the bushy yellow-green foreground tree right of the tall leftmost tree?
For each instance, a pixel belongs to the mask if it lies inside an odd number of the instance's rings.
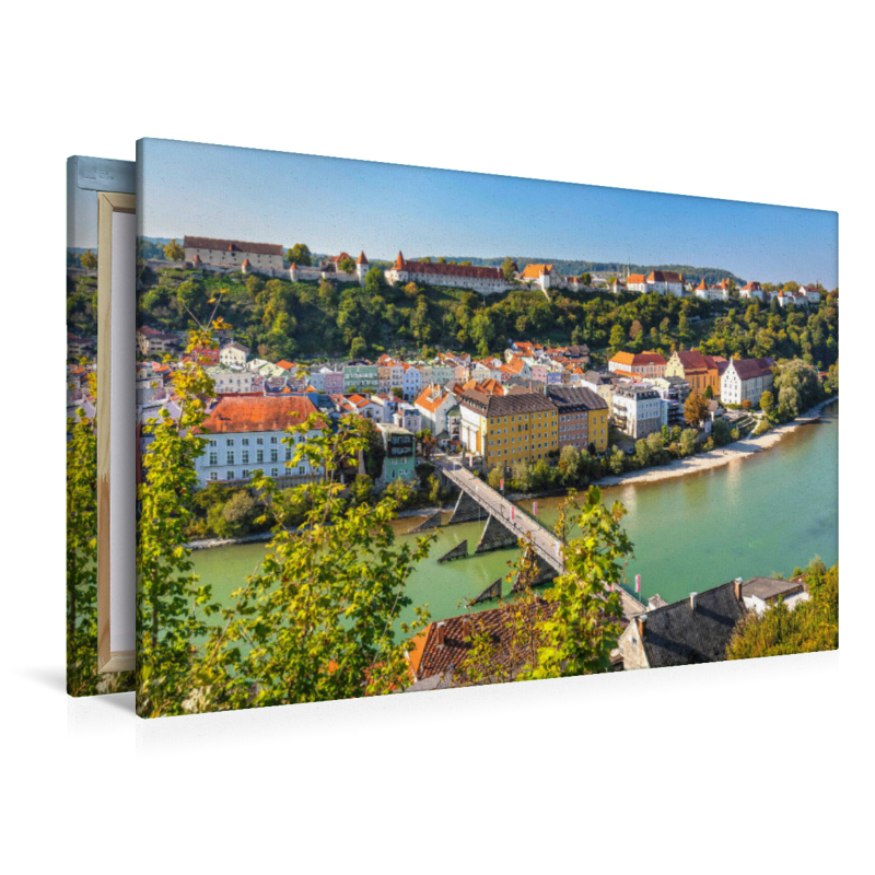
[[[340,471],[364,450],[361,422],[345,417],[337,432],[295,442],[296,433],[318,427],[315,415],[290,428],[293,465],[306,460],[324,472],[307,485],[304,525],[290,529],[281,511],[258,573],[248,579],[228,635],[250,642],[230,701],[256,707],[371,696],[404,689],[409,682],[409,639],[428,620],[411,605],[407,579],[425,558],[433,535],[398,544],[392,528],[398,501],[384,493],[373,504],[343,498]],[[276,488],[257,481],[269,501]],[[318,561],[314,559],[318,557]],[[255,680],[255,688],[249,679]]]

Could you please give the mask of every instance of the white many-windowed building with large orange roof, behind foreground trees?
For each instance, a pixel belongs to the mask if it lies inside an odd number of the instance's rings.
[[[201,429],[208,443],[195,462],[200,486],[215,481],[245,485],[256,469],[284,478],[284,485],[312,481],[322,470],[311,469],[306,460],[295,462],[293,447],[282,441],[287,428],[316,412],[308,398],[296,395],[220,398]],[[295,434],[294,443],[317,438],[323,428],[325,423]]]

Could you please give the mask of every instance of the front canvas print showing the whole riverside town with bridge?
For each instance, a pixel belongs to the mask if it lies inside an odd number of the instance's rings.
[[[838,646],[838,217],[138,144],[137,707]]]

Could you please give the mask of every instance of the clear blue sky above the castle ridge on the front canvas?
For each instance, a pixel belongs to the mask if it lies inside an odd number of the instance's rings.
[[[306,243],[313,252],[687,264],[838,284],[824,210],[142,141],[145,236]]]

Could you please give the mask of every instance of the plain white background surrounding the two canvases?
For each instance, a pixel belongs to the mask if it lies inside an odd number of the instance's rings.
[[[408,0],[5,11],[7,871],[871,865],[864,8]],[[132,695],[69,699],[65,159],[133,159],[140,136],[838,210],[841,651],[151,722],[133,716]]]

